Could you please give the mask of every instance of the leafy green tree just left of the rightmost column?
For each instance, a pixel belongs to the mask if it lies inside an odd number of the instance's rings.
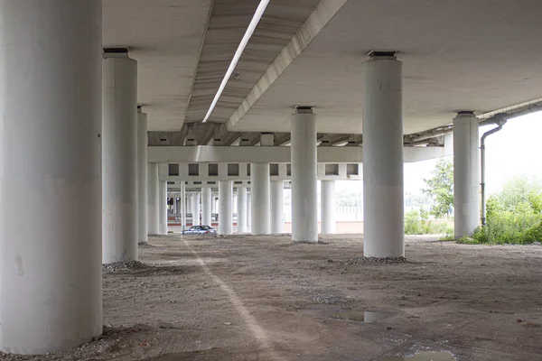
[[[431,214],[435,218],[449,217],[453,208],[453,162],[441,159],[431,172],[432,178],[425,181],[424,193],[435,199]]]

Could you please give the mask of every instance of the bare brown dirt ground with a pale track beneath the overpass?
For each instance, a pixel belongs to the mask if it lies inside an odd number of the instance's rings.
[[[145,265],[104,274],[103,337],[0,359],[542,360],[541,245],[406,239],[382,264],[356,260],[360,236],[151,238]]]

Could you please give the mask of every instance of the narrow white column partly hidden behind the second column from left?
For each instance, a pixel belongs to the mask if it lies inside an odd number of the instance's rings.
[[[148,184],[147,184],[147,116],[137,113],[137,243],[147,243]]]

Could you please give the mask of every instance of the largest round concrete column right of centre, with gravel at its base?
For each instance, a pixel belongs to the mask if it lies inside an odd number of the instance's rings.
[[[402,64],[395,56],[363,63],[363,253],[405,255]]]

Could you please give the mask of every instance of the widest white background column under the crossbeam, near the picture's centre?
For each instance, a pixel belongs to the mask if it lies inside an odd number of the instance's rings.
[[[250,188],[252,192],[251,218],[254,222],[253,235],[271,233],[271,180],[269,163],[250,164]]]

